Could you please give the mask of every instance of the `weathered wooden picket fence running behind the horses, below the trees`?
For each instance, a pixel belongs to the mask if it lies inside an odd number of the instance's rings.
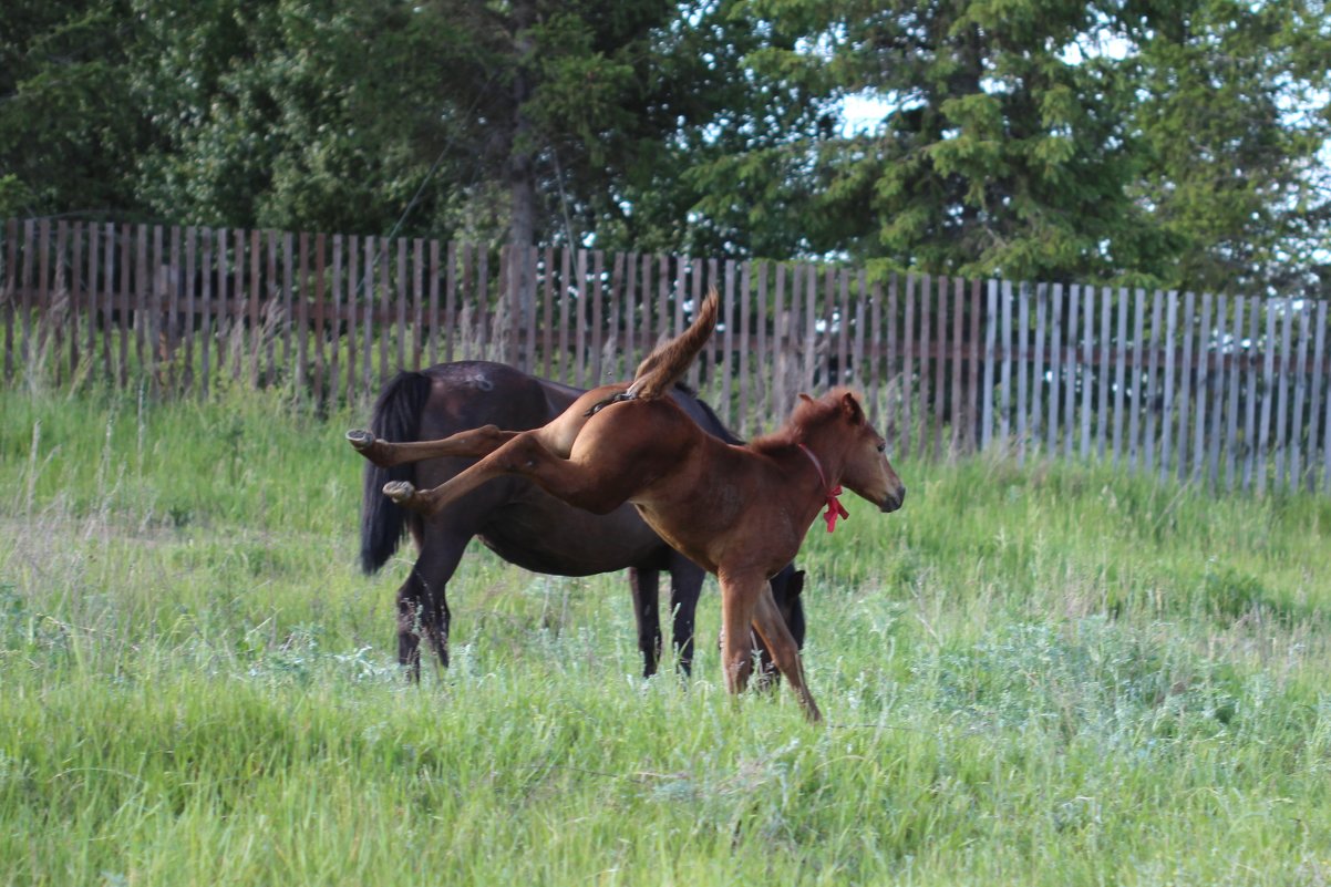
[[[898,457],[1001,447],[1331,491],[1324,302],[45,220],[0,237],[9,384],[225,381],[363,404],[399,368],[483,358],[587,386],[627,378],[716,286],[721,321],[688,381],[740,433],[848,384]]]

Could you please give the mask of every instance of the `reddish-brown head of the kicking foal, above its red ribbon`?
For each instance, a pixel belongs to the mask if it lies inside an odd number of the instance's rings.
[[[820,437],[840,454],[841,483],[857,495],[873,502],[882,511],[896,511],[906,497],[906,487],[888,462],[888,442],[873,430],[864,416],[860,400],[845,389],[837,389],[817,401],[800,394],[805,401],[796,410],[807,433]],[[797,421],[799,421],[797,420]]]

